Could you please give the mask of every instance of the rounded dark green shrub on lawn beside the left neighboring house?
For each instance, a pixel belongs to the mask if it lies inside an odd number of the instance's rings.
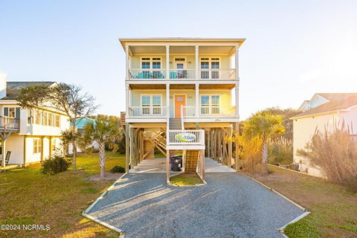
[[[66,171],[72,162],[69,159],[65,159],[59,155],[50,156],[48,159],[42,161],[41,173],[44,174],[56,174]]]

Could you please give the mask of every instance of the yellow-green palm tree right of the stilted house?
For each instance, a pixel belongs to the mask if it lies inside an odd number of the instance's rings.
[[[283,117],[267,111],[257,112],[249,117],[244,125],[244,130],[251,137],[259,137],[263,142],[262,163],[263,174],[268,173],[268,140],[285,132]]]

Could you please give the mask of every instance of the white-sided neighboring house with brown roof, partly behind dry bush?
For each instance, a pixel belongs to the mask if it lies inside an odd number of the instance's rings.
[[[321,176],[321,171],[312,167],[307,158],[297,156],[296,151],[306,146],[316,130],[324,132],[326,127],[332,132],[335,126],[341,128],[342,121],[345,128],[349,125],[350,133],[356,135],[357,93],[316,93],[308,104],[310,110],[290,118],[293,120],[293,160],[300,163],[300,171]]]

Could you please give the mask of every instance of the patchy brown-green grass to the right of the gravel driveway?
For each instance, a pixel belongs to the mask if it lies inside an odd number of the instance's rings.
[[[311,214],[285,229],[290,238],[357,237],[357,194],[321,178],[270,166],[268,176],[249,174]]]

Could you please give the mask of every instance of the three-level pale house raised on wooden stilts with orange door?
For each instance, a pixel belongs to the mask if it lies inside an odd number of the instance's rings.
[[[225,136],[239,122],[238,50],[245,39],[119,41],[126,53],[127,169],[153,159],[155,147],[167,158],[167,176],[176,152],[183,152],[186,165],[198,164],[201,177],[205,156],[231,168],[232,142]]]

